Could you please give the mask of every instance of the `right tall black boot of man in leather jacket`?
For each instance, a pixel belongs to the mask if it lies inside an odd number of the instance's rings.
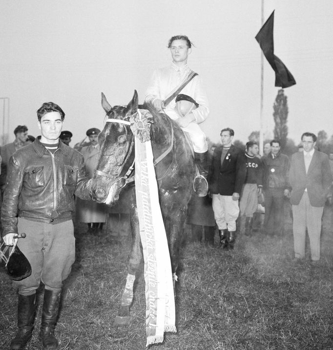
[[[54,336],[54,328],[58,316],[60,294],[61,291],[44,290],[42,324],[39,337],[45,349],[58,348],[58,340]]]

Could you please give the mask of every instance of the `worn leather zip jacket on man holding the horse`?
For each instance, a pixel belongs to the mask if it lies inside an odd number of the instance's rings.
[[[17,234],[18,217],[59,223],[72,219],[74,194],[91,199],[83,155],[59,141],[51,153],[38,138],[9,160],[1,208],[2,235]]]

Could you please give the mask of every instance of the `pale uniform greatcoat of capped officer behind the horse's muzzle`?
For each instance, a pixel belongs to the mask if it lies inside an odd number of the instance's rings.
[[[94,170],[97,166],[98,153],[100,145],[93,147],[92,145],[83,147],[81,153],[84,158],[85,174],[88,178],[92,178]],[[93,200],[81,200],[77,198],[76,202],[76,220],[78,222],[105,222],[106,206],[103,203],[97,203]]]

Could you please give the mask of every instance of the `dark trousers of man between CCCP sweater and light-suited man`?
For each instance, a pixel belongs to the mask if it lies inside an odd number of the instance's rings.
[[[284,224],[283,190],[265,191],[264,232],[266,235],[283,235]]]

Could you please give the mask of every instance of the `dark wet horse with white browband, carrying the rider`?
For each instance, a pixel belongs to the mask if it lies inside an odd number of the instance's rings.
[[[138,112],[138,94],[134,91],[133,98],[127,106],[111,107],[102,93],[102,106],[108,119],[98,136],[100,153],[95,175],[92,178],[91,191],[95,201],[112,205],[119,199],[122,189],[131,186],[134,180],[135,136],[128,122],[130,117]],[[166,114],[159,113],[149,106],[145,106],[145,109],[151,113],[151,146],[173,281],[175,281],[179,245],[184,232],[187,204],[191,197],[195,175],[193,151],[184,132]],[[135,273],[143,259],[134,191],[132,191],[132,199],[130,208],[132,246],[127,283],[116,324],[128,322]]]

